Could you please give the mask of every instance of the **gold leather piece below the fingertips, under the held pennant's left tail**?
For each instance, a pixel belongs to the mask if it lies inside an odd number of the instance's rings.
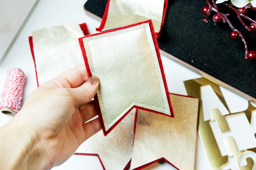
[[[107,136],[101,130],[83,142],[76,153],[98,154],[105,170],[123,170],[132,158],[134,116],[135,109]]]

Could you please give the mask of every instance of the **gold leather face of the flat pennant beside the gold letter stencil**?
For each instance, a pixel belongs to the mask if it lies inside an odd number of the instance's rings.
[[[193,170],[198,99],[170,95],[175,118],[138,110],[131,169],[165,158],[180,170]]]

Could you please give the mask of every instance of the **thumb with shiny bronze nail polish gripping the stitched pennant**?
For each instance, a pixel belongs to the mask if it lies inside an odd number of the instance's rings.
[[[99,87],[99,79],[95,75],[88,77],[86,82],[77,88],[71,88],[70,93],[75,107],[89,103],[95,96]]]

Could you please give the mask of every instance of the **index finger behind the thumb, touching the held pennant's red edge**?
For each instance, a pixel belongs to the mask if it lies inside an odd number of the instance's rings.
[[[58,87],[65,87],[65,88],[75,88],[82,83],[84,83],[88,79],[88,74],[86,71],[86,67],[84,64],[79,66],[73,67],[59,76],[51,79],[41,86],[58,88]]]

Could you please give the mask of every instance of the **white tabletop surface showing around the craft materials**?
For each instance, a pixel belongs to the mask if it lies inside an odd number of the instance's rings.
[[[83,9],[85,2],[86,0],[39,0],[7,55],[0,61],[0,91],[4,89],[6,73],[10,68],[20,68],[25,72],[26,83],[22,104],[29,94],[37,88],[34,62],[28,42],[28,37],[32,35],[32,31],[76,21],[78,24],[86,22],[89,32],[91,34],[97,33],[95,28],[99,27],[100,22],[86,15]],[[183,81],[201,77],[165,56],[162,56],[162,61],[170,93],[186,95]],[[225,88],[221,88],[221,90],[231,113],[243,111],[247,108],[247,100]],[[10,119],[12,119],[12,116],[0,113],[0,126]],[[209,169],[199,137],[197,138],[195,157],[196,170]],[[102,169],[102,166],[97,156],[72,155],[67,162],[53,169]],[[167,163],[163,163],[151,169],[165,170],[174,168]]]

